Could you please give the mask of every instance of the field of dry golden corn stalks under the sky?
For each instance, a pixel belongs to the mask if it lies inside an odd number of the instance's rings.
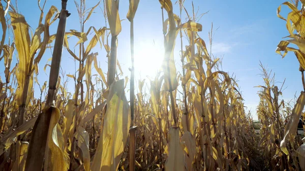
[[[209,40],[199,37],[203,14],[197,15],[194,6],[188,12],[184,3],[190,2],[159,0],[165,50],[161,72],[147,79],[135,78],[134,70],[134,17],[140,0],[120,6],[128,8],[126,17],[118,13],[119,0],[96,1],[91,8],[85,0],[61,2],[62,7],[45,9],[46,0],[38,0],[41,13],[34,32],[17,3],[0,2],[0,170],[305,171],[305,139],[297,134],[299,118],[305,121],[304,0],[283,3],[290,9],[285,17],[278,8],[289,36],[276,50],[282,57],[294,52],[304,90],[293,105],[280,100],[281,85],[260,64],[265,85],[257,86],[258,134],[235,77],[222,71],[222,60],[207,49],[212,29]],[[173,13],[175,3],[178,14]],[[78,14],[70,14],[72,8]],[[98,8],[104,27],[85,26]],[[66,30],[73,15],[80,29]],[[123,74],[117,46],[125,18],[131,47],[125,53],[131,54],[132,65]],[[56,31],[51,29],[55,23]],[[99,55],[96,48],[107,55]],[[50,63],[41,63],[46,51],[52,52]],[[64,74],[66,65],[60,61],[66,57],[76,62],[75,74]],[[100,66],[102,60],[108,61],[107,68]],[[49,81],[39,82],[46,68]],[[67,91],[67,78],[74,82],[74,91]]]

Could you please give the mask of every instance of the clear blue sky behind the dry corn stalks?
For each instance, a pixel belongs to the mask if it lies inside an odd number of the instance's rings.
[[[46,3],[45,14],[51,5],[60,9],[59,0],[49,0]],[[172,1],[173,2],[173,1]],[[239,80],[241,94],[245,99],[245,106],[255,116],[255,108],[258,105],[259,97],[257,91],[259,88],[254,86],[262,85],[259,70],[259,61],[267,66],[269,70],[276,73],[276,81],[278,86],[286,78],[282,99],[289,100],[294,94],[302,90],[301,75],[298,71],[299,64],[292,53],[282,59],[280,55],[275,53],[278,43],[283,37],[288,36],[285,21],[277,17],[277,8],[285,1],[260,0],[260,1],[220,1],[220,0],[194,0],[194,7],[197,10],[199,6],[199,14],[205,13],[199,21],[203,30],[199,32],[201,38],[208,44],[208,31],[213,22],[215,31],[212,53],[215,56],[223,56],[223,71],[230,75],[235,74]],[[42,1],[43,3],[43,1]],[[86,1],[87,8],[95,6],[97,0]],[[13,1],[15,4],[15,1]],[[173,2],[174,4],[174,2]],[[192,13],[192,1],[186,0],[185,7],[189,13]],[[103,8],[102,3],[100,6]],[[129,1],[121,0],[119,4],[120,19],[126,19]],[[74,1],[68,0],[67,9],[71,13],[68,18],[66,30],[79,30],[78,14]],[[174,13],[178,14],[178,5],[174,5]],[[286,17],[287,8],[283,7],[282,16]],[[18,1],[18,11],[21,12],[32,30],[38,26],[40,11],[36,0]],[[105,21],[100,8],[96,8],[96,13],[92,15],[85,24],[85,31],[89,26],[95,26],[97,29],[105,26]],[[285,13],[286,12],[286,13]],[[186,18],[182,14],[182,21]],[[157,71],[156,65],[161,65],[163,48],[162,33],[162,15],[160,3],[157,0],[141,0],[134,19],[135,29],[135,54],[136,54],[136,77],[146,78],[146,75],[154,76]],[[50,28],[50,34],[54,34],[57,28],[55,22]],[[124,76],[130,76],[128,68],[130,64],[130,22],[126,19],[121,21],[122,31],[118,37],[117,57],[124,70]],[[179,45],[177,39],[176,42]],[[70,48],[73,49],[75,43],[70,42]],[[178,47],[178,46],[177,46]],[[77,48],[75,48],[77,51]],[[97,46],[93,52],[98,52],[98,60],[102,66],[102,70],[107,72],[107,58],[105,50]],[[39,82],[43,83],[48,80],[49,70],[44,73],[43,67],[48,58],[51,57],[50,50],[46,51],[39,66]],[[175,59],[177,68],[180,67],[178,50],[175,51]],[[16,62],[16,60],[15,60]],[[14,65],[14,60],[12,65]],[[72,57],[64,51],[62,57],[62,66],[67,74],[73,74],[75,71],[74,61]],[[4,65],[0,62],[0,76],[4,79]],[[93,72],[95,70],[93,69]],[[73,80],[71,80],[73,81]],[[74,91],[72,83],[69,91]],[[137,91],[136,91],[137,92]]]

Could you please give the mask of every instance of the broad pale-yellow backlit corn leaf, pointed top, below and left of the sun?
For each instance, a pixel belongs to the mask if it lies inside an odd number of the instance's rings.
[[[130,109],[124,93],[124,79],[110,85],[103,126],[91,169],[117,170],[130,127]]]

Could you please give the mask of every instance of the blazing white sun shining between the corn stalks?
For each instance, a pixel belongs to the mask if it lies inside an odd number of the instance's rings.
[[[154,41],[143,42],[135,46],[135,76],[152,77],[161,70],[164,48],[157,46]]]

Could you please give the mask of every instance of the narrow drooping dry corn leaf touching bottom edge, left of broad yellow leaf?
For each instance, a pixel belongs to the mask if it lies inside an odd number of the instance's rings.
[[[78,140],[77,146],[82,152],[85,171],[90,171],[89,134],[83,127],[78,126],[75,132],[75,138]]]

